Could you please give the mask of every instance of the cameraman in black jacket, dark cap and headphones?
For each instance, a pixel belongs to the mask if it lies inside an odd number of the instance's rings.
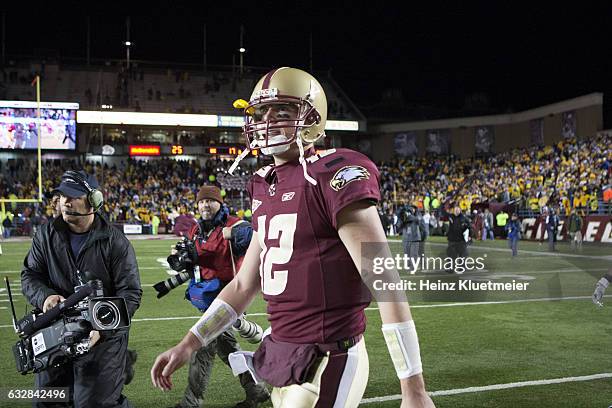
[[[136,255],[127,238],[97,213],[102,193],[95,177],[67,171],[56,192],[61,216],[34,236],[21,272],[23,294],[46,312],[74,293],[87,274],[86,280],[102,281],[105,296],[123,297],[133,316],[142,296]],[[71,404],[66,406],[129,407],[121,394],[128,335],[128,329],[92,330],[89,352],[37,373],[36,387],[69,387]]]

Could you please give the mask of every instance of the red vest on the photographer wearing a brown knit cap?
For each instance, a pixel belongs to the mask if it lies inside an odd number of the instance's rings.
[[[222,282],[227,283],[234,279],[234,271],[232,269],[232,259],[230,253],[230,241],[223,239],[223,227],[231,227],[240,221],[239,218],[228,216],[225,225],[216,226],[208,236],[206,242],[196,240],[196,248],[198,250],[198,264],[200,265],[200,276],[202,279],[219,278]],[[189,239],[193,239],[200,230],[200,224],[194,224],[187,233]],[[204,236],[206,232],[202,231],[200,235]],[[240,269],[243,257],[234,259],[236,264],[236,272]]]

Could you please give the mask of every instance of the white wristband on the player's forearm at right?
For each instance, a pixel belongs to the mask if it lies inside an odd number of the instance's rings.
[[[421,350],[414,320],[383,324],[382,331],[399,379],[422,373]]]

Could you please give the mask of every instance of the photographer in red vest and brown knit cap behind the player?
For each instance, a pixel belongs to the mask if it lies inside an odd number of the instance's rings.
[[[215,186],[202,186],[196,197],[198,212],[201,219],[187,233],[189,240],[195,240],[197,252],[197,265],[200,279],[204,282],[220,281],[218,290],[212,293],[209,300],[214,297],[234,278],[234,271],[238,270],[242,257],[251,242],[253,230],[248,222],[229,215],[227,206],[223,205],[221,191]],[[237,262],[234,265],[234,259]],[[196,269],[197,270],[197,269]],[[197,284],[192,279],[187,289],[187,297],[201,312],[205,307],[197,302],[194,291]],[[197,296],[201,298],[201,296]],[[222,333],[215,341],[206,347],[200,348],[192,354],[189,362],[189,380],[185,394],[178,407],[199,407],[202,404],[204,392],[212,371],[215,354],[228,365],[230,353],[240,350],[240,345],[232,330]],[[240,375],[240,385],[244,388],[246,399],[237,407],[256,407],[258,403],[269,398],[265,387],[256,385],[250,374]]]

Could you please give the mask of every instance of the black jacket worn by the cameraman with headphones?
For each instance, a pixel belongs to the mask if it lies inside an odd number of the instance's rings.
[[[79,284],[78,272],[100,279],[105,296],[121,296],[134,315],[142,288],[134,248],[121,231],[96,214],[87,241],[77,259],[70,250],[68,224],[62,217],[38,230],[23,261],[21,287],[28,302],[42,310],[51,295],[67,298]]]

